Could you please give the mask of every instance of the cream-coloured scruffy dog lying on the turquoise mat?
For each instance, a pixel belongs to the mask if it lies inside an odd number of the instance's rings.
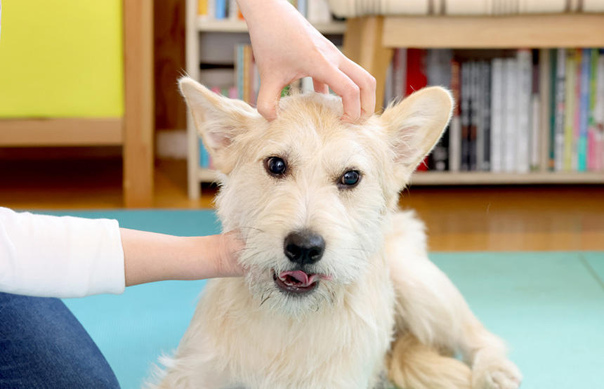
[[[424,225],[397,211],[449,121],[445,89],[360,124],[332,95],[283,98],[269,123],[192,79],[180,90],[249,272],[208,282],[161,388],[518,388],[504,344],[428,261]]]

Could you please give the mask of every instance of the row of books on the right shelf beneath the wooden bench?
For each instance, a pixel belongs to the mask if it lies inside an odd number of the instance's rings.
[[[604,169],[604,50],[398,49],[384,99],[452,90],[445,136],[419,170]]]

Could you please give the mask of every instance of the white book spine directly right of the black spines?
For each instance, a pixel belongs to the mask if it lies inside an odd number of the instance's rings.
[[[491,62],[491,171],[499,173],[503,171],[501,159],[501,120],[503,92],[503,67],[501,58],[494,58]]]

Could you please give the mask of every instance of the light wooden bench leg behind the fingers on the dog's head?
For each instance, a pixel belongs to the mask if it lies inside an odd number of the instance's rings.
[[[350,18],[344,34],[344,54],[376,78],[376,110],[381,111],[386,71],[392,60],[393,48],[382,44],[383,17]]]

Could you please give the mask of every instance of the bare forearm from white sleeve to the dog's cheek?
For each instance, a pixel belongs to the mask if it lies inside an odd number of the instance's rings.
[[[120,228],[126,286],[166,279],[235,277],[242,270],[233,260],[241,243],[237,235],[175,237]]]

